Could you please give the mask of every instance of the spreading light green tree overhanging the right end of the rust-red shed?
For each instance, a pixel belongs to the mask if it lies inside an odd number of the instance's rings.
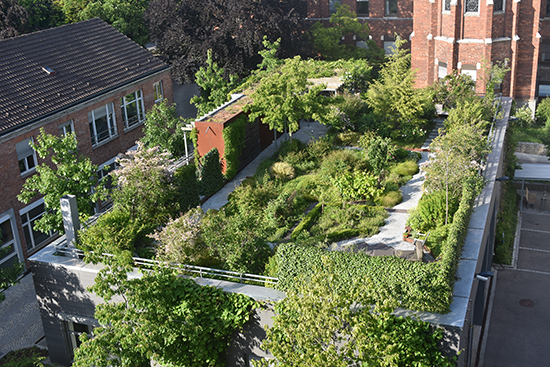
[[[252,103],[243,107],[250,113],[250,121],[261,118],[271,129],[280,132],[288,129],[291,138],[300,128],[301,119],[328,122],[328,107],[319,94],[325,85],[309,85],[307,72],[300,62],[299,56],[288,59],[278,70],[261,79],[250,95]]]

